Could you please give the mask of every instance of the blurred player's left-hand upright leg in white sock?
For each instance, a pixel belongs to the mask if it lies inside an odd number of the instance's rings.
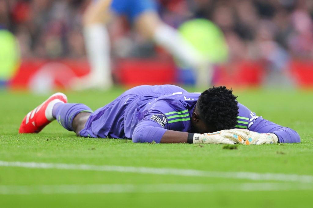
[[[110,4],[111,0],[91,1],[83,14],[83,35],[90,73],[74,79],[71,83],[73,89],[107,89],[113,84],[110,66],[110,37],[105,26],[112,18]]]

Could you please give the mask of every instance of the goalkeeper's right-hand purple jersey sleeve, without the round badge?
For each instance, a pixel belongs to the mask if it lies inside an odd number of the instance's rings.
[[[275,133],[280,143],[300,142],[300,136],[295,130],[263,119],[242,104],[238,104],[238,106],[239,116],[235,128],[246,128],[259,133]]]

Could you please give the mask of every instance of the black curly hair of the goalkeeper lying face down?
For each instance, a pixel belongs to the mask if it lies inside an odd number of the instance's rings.
[[[237,124],[238,102],[232,89],[225,86],[205,90],[197,101],[200,118],[214,131],[231,129]]]

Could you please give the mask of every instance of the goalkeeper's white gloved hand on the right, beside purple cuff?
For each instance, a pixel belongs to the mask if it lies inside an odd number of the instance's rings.
[[[272,144],[277,142],[278,137],[274,133],[258,133],[250,131],[248,139],[244,142],[244,144]]]

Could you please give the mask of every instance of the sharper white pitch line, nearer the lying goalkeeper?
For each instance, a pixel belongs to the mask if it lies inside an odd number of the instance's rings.
[[[38,162],[7,162],[0,161],[0,166],[25,167],[41,169],[63,169],[63,170],[89,170],[103,172],[127,172],[156,175],[176,175],[192,177],[213,177],[213,178],[233,178],[255,181],[296,181],[302,183],[312,183],[312,175],[297,175],[284,173],[256,173],[256,172],[217,172],[201,171],[192,169],[176,168],[152,168],[152,167],[131,167],[131,166],[98,166],[86,164],[64,164],[64,163],[38,163]]]

